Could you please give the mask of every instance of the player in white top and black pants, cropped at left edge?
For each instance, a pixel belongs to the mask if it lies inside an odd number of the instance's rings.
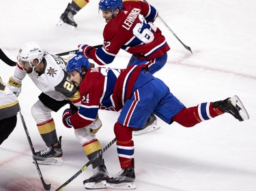
[[[0,145],[14,131],[19,110],[18,99],[0,77]]]

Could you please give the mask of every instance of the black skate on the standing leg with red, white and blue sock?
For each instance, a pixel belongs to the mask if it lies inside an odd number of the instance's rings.
[[[135,173],[134,173],[134,162],[132,162],[132,167],[128,167],[127,169],[122,169],[119,173],[117,173],[114,177],[106,179],[106,188],[113,189],[135,189],[136,186],[134,184]]]

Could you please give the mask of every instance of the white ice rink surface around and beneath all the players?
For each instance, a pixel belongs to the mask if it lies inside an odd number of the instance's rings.
[[[251,119],[239,122],[224,114],[193,128],[165,124],[150,134],[134,137],[137,190],[171,191],[255,191],[256,190],[256,1],[157,1],[160,17],[191,54],[160,21],[156,25],[167,38],[171,51],[167,64],[156,73],[187,107],[218,101],[237,94]],[[57,54],[75,50],[79,44],[102,44],[104,19],[98,1],[91,2],[75,17],[79,27],[56,27],[69,1],[1,0],[0,48],[12,60],[28,41],[37,41],[44,50]],[[130,55],[120,51],[109,67],[126,67]],[[14,72],[0,61],[0,76],[7,82]],[[30,109],[40,91],[29,77],[23,80],[18,97],[21,112],[35,150],[45,148]],[[65,108],[63,108],[65,109]],[[61,122],[63,109],[53,113],[58,136],[63,137],[61,166],[40,166],[44,181],[55,190],[88,161],[72,129]],[[98,132],[102,146],[114,138],[113,124],[118,113],[100,111],[103,122]],[[14,132],[0,146],[0,190],[44,190],[23,125],[18,116]],[[119,162],[115,145],[104,153],[111,175]],[[85,190],[83,179],[91,167],[63,190]]]

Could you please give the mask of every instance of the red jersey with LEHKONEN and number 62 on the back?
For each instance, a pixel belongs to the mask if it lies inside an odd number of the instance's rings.
[[[99,65],[112,63],[120,49],[142,60],[158,58],[170,50],[165,37],[152,22],[158,12],[143,1],[125,1],[124,8],[103,31],[104,46],[89,51]]]

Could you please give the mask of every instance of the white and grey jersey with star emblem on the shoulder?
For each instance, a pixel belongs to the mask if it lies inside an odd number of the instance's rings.
[[[41,75],[38,75],[36,71],[27,74],[20,65],[17,65],[14,76],[23,80],[25,75],[29,75],[35,86],[44,92],[44,94],[47,94],[57,101],[68,98],[70,98],[71,101],[79,99],[80,94],[78,90],[68,80],[65,60],[59,56],[45,52],[43,61],[44,72]]]

